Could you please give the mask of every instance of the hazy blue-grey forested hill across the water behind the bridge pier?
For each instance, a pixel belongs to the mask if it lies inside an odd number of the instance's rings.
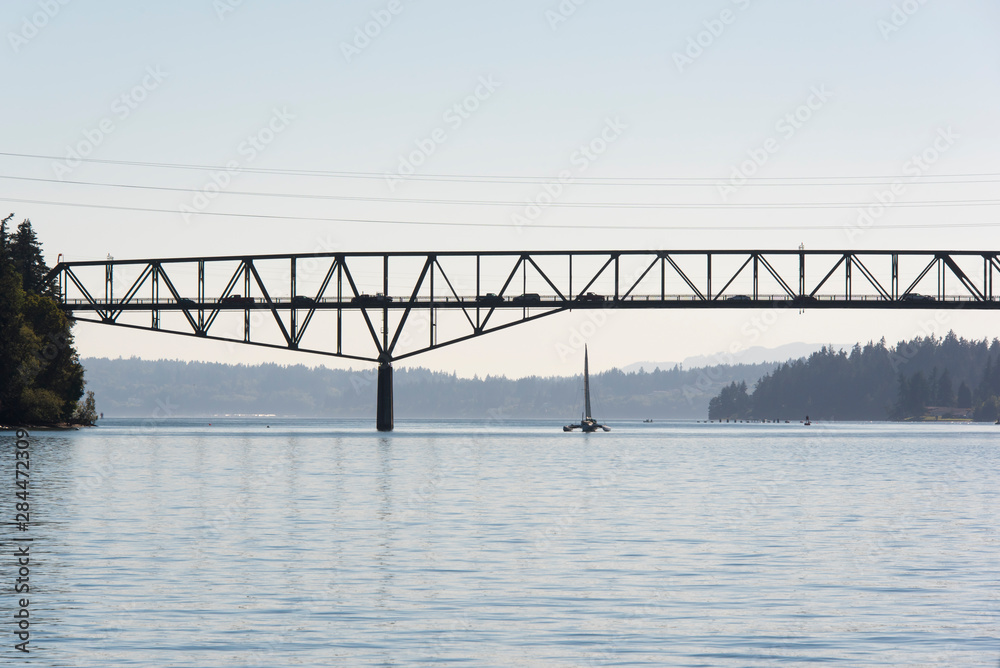
[[[177,360],[83,360],[87,389],[109,417],[283,415],[366,417],[375,414],[374,368],[334,370],[302,365],[227,365]],[[591,376],[595,417],[705,418],[708,402],[732,382],[755,383],[776,364]],[[396,417],[571,420],[583,408],[583,381],[573,377],[458,378],[427,369],[395,370]]]

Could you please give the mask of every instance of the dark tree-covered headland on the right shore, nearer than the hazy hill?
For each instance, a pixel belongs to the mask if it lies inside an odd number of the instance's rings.
[[[916,337],[887,346],[883,338],[848,353],[823,348],[782,364],[753,390],[723,388],[709,402],[709,419],[905,420],[932,408],[1000,417],[1000,340]],[[951,409],[951,410],[949,410]]]

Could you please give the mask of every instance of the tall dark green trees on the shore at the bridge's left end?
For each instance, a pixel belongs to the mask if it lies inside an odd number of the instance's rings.
[[[89,424],[93,393],[73,346],[72,323],[45,277],[42,248],[24,220],[0,221],[0,424]]]

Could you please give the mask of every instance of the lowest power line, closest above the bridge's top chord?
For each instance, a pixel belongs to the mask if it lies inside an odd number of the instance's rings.
[[[111,204],[81,204],[74,202],[50,202],[43,200],[29,200],[29,199],[15,199],[15,198],[3,198],[0,201],[5,202],[16,202],[20,204],[39,204],[44,206],[67,206],[67,207],[77,207],[86,209],[111,209],[117,211],[139,211],[145,213],[168,213],[172,215],[178,215],[183,212],[174,211],[170,209],[156,209],[147,207],[132,207],[132,206],[117,206]],[[894,206],[904,206],[904,205],[894,205]],[[788,207],[792,208],[792,207]],[[797,206],[795,208],[802,208]],[[837,207],[837,208],[849,208],[849,207]],[[854,207],[850,207],[854,208]],[[754,226],[738,226],[738,225],[728,225],[728,226],[717,226],[717,225],[552,225],[543,223],[529,223],[527,225],[514,225],[512,223],[495,224],[495,223],[467,223],[467,222],[454,222],[454,221],[422,221],[422,220],[388,220],[388,219],[367,219],[367,218],[325,218],[317,216],[288,216],[288,215],[276,215],[276,214],[260,214],[260,213],[232,213],[232,212],[214,212],[214,211],[192,211],[189,215],[197,216],[221,216],[228,218],[258,218],[264,220],[298,220],[298,221],[308,221],[308,222],[323,222],[323,223],[362,223],[371,225],[436,225],[445,227],[479,227],[479,228],[492,228],[492,229],[506,229],[506,228],[529,228],[529,229],[566,229],[566,230],[653,230],[653,231],[705,231],[705,230],[715,230],[715,231],[763,231],[763,230],[785,230],[785,231],[796,231],[796,230],[845,230],[854,229],[850,225],[754,225]],[[949,223],[947,227],[958,228],[958,227],[998,227],[1000,222],[981,222],[981,223]],[[939,223],[931,224],[910,224],[910,225],[892,225],[879,227],[880,230],[907,230],[907,229],[941,229]]]

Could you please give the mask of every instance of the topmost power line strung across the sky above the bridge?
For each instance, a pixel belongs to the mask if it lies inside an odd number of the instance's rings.
[[[33,153],[10,153],[0,152],[0,156],[13,158],[28,158],[34,160],[65,160],[65,157],[53,155],[39,155]],[[168,162],[150,162],[139,160],[106,160],[99,158],[74,158],[80,162],[106,165],[122,165],[129,167],[150,167],[158,169],[182,169],[198,171],[224,171],[229,169],[221,165],[199,165]],[[238,172],[254,174],[273,174],[286,176],[316,176],[327,178],[345,179],[396,179],[408,181],[453,181],[465,183],[551,183],[558,180],[558,176],[517,176],[517,175],[468,175],[468,174],[413,174],[403,176],[391,172],[356,172],[356,171],[330,171],[330,170],[308,170],[308,169],[265,169],[260,167],[239,167]],[[901,180],[898,174],[889,175],[869,175],[869,176],[784,176],[784,177],[747,177],[744,185],[812,185],[812,186],[842,186],[842,185],[890,185]],[[928,175],[927,177],[907,177],[906,180],[913,183],[923,183],[918,179],[1000,179],[1000,173],[967,173],[967,174],[947,174]],[[664,177],[573,177],[574,183],[581,183],[593,186],[666,186],[666,185],[719,185],[726,184],[728,177],[707,177],[707,176],[664,176]],[[857,181],[856,183],[805,183],[807,181]],[[889,181],[889,183],[871,183],[872,180]],[[979,183],[981,181],[927,181],[927,183]]]

